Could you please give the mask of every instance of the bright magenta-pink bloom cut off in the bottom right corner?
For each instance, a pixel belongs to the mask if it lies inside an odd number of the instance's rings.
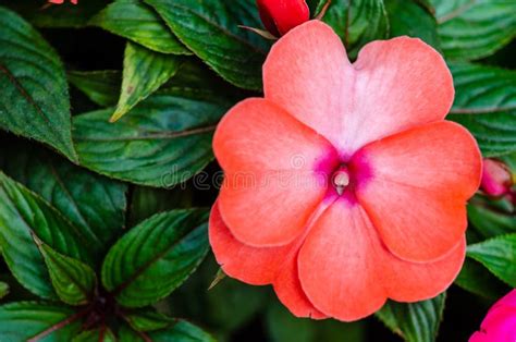
[[[469,342],[516,341],[516,290],[497,301],[490,309]]]

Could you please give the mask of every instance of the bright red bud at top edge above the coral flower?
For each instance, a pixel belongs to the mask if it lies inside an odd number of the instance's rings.
[[[278,37],[310,20],[310,9],[305,0],[257,0],[256,3],[261,22]]]

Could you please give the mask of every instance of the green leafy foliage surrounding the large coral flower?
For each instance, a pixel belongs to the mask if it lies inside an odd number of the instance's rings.
[[[320,2],[310,1],[312,13]],[[0,5],[1,303],[30,301],[0,308],[0,341],[34,337],[91,303],[98,307],[45,341],[211,339],[171,317],[219,341],[433,341],[438,330],[438,341],[466,341],[516,286],[514,204],[479,194],[468,208],[465,267],[446,295],[427,303],[391,303],[355,323],[316,322],[292,317],[268,288],[223,279],[208,291],[218,267],[207,210],[177,210],[213,203],[217,188],[205,185],[219,171],[214,125],[260,93],[270,42],[237,27],[260,26],[254,1]],[[352,58],[400,35],[441,51],[456,86],[449,118],[476,135],[486,157],[516,170],[514,1],[334,0],[324,21]],[[169,258],[149,245],[156,232],[171,243]],[[187,236],[183,249],[172,246],[174,234]],[[128,265],[139,257],[150,267],[138,278]],[[119,305],[99,304],[121,279],[128,285]],[[47,304],[36,304],[41,297]]]

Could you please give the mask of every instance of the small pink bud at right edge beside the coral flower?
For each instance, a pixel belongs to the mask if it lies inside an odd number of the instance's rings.
[[[490,196],[503,196],[511,193],[513,179],[506,164],[494,159],[483,160],[482,184],[483,192]]]

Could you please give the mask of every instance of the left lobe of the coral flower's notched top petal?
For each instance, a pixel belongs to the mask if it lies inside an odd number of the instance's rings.
[[[354,70],[333,29],[310,21],[283,36],[263,64],[266,98],[325,136],[342,138],[342,115],[351,106]]]

